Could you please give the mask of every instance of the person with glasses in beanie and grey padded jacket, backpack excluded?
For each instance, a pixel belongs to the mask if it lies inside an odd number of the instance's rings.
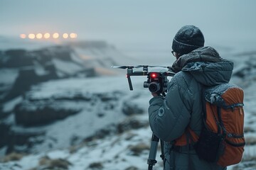
[[[230,81],[233,62],[224,60],[212,47],[204,47],[203,33],[196,26],[183,26],[173,44],[176,61],[166,97],[152,93],[149,124],[164,140],[164,169],[226,169],[199,159],[193,146],[203,124],[202,91]]]

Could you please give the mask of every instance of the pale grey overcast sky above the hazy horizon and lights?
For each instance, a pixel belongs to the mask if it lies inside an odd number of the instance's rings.
[[[195,25],[206,41],[255,42],[255,7],[255,0],[0,0],[0,35],[75,32],[115,45],[166,44],[181,26]]]

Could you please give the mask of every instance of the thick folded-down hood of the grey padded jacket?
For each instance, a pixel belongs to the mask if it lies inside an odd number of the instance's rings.
[[[190,72],[204,86],[214,86],[230,81],[233,62],[221,58],[213,47],[200,47],[176,60],[172,70]]]

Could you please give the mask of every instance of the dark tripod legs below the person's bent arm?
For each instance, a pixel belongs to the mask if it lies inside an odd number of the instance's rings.
[[[164,160],[164,142],[160,140],[161,142],[161,159]],[[151,146],[149,151],[149,159],[147,160],[147,164],[149,164],[148,170],[152,170],[153,166],[156,164],[156,152],[158,148],[159,138],[156,137],[156,135],[152,135],[151,137]]]

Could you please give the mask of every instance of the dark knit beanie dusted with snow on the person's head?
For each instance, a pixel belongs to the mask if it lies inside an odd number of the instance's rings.
[[[198,47],[203,47],[203,45],[203,33],[199,28],[196,26],[183,26],[174,37],[172,49],[180,55],[185,55]]]

